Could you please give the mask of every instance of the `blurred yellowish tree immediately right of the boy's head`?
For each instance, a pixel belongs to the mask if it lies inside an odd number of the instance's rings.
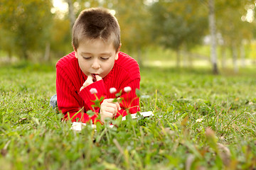
[[[129,4],[129,8],[127,8]],[[148,6],[144,1],[124,0],[114,4],[121,28],[122,50],[136,54],[142,67],[142,53],[151,43]]]

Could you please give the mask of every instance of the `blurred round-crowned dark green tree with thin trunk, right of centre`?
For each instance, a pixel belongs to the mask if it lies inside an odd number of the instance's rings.
[[[207,16],[200,1],[174,0],[151,5],[151,35],[155,42],[177,53],[177,67],[180,67],[180,51],[189,50],[201,43],[207,26]]]

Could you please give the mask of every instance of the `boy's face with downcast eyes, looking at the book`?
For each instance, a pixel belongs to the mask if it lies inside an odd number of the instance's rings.
[[[102,78],[110,73],[119,53],[119,50],[116,52],[114,49],[113,43],[106,44],[101,39],[82,41],[78,49],[74,50],[82,72],[86,76],[97,74]]]

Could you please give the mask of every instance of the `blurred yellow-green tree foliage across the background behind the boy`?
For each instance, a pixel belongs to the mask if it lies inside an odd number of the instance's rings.
[[[207,0],[62,2],[66,6],[70,2],[73,13],[69,13],[68,8],[53,6],[54,1],[50,0],[2,0],[1,58],[58,60],[73,50],[71,16],[78,16],[85,8],[103,6],[110,8],[119,20],[122,51],[137,58],[139,64],[148,64],[149,52],[156,49],[174,50],[176,54],[169,56],[169,60],[176,60],[177,66],[210,60],[210,50],[204,54],[201,50],[195,52],[201,49],[198,47],[207,47],[209,42]],[[215,0],[215,18],[221,65],[225,67],[231,59],[236,68],[238,61],[241,66],[245,66],[245,60],[252,64],[255,60],[252,47],[255,44],[255,1]],[[154,57],[154,60],[161,60],[161,57]],[[186,62],[189,64],[184,64]]]

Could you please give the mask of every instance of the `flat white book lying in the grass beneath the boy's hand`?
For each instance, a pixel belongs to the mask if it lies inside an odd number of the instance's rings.
[[[149,116],[151,116],[151,115],[154,115],[151,111],[148,111],[148,112],[141,112],[140,114],[143,115],[144,118],[147,118],[147,117],[149,117]],[[131,116],[132,116],[132,119],[138,118],[137,113],[131,114]],[[126,120],[126,116],[122,117],[122,120]],[[81,131],[81,130],[82,130],[82,127],[83,127],[83,126],[86,126],[86,125],[87,125],[86,123],[73,122],[72,127],[71,127],[70,129],[71,129],[71,130],[75,130],[75,131]],[[91,125],[91,127],[92,127],[93,129],[96,129],[96,125]],[[109,125],[109,127],[110,127],[110,128],[113,128],[114,125]]]

